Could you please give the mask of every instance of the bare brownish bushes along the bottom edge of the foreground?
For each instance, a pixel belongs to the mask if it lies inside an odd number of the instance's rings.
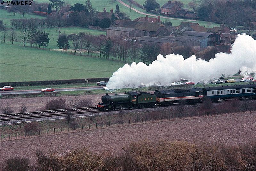
[[[117,153],[93,153],[80,148],[58,155],[37,150],[36,164],[26,157],[0,163],[5,170],[241,170],[256,169],[256,143],[234,147],[220,143],[143,140],[122,147]]]

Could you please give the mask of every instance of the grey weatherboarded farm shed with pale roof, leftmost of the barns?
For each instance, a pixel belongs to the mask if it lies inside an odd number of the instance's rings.
[[[107,30],[107,38],[115,37],[116,35],[123,35],[127,38],[141,37],[144,32],[136,28],[124,28],[124,27],[109,27]]]

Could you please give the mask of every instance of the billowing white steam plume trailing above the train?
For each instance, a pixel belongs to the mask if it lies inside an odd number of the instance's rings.
[[[107,87],[118,89],[124,86],[153,84],[170,85],[180,78],[188,78],[195,83],[219,77],[222,74],[232,75],[241,70],[242,74],[256,72],[256,40],[249,35],[238,35],[231,53],[217,53],[209,62],[196,59],[194,55],[188,59],[182,55],[161,54],[148,66],[142,62],[125,64],[115,71],[109,79]]]

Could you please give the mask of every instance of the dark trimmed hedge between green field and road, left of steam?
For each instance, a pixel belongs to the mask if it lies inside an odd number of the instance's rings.
[[[109,78],[87,78],[89,82],[108,81]],[[59,84],[74,84],[85,83],[85,79],[71,80],[45,80],[45,81],[28,81],[28,82],[0,82],[0,87],[9,85],[12,87],[18,86],[37,86],[37,85],[59,85]]]

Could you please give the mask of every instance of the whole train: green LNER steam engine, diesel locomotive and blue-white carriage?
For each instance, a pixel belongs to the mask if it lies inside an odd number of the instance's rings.
[[[101,97],[102,103],[97,108],[105,110],[122,109],[122,108],[141,108],[153,107],[156,105],[173,105],[184,101],[186,103],[198,103],[204,97],[212,101],[228,98],[251,97],[256,99],[256,84],[204,87],[189,89],[166,89],[155,90],[154,94],[147,92],[126,92],[118,95],[104,95]]]

